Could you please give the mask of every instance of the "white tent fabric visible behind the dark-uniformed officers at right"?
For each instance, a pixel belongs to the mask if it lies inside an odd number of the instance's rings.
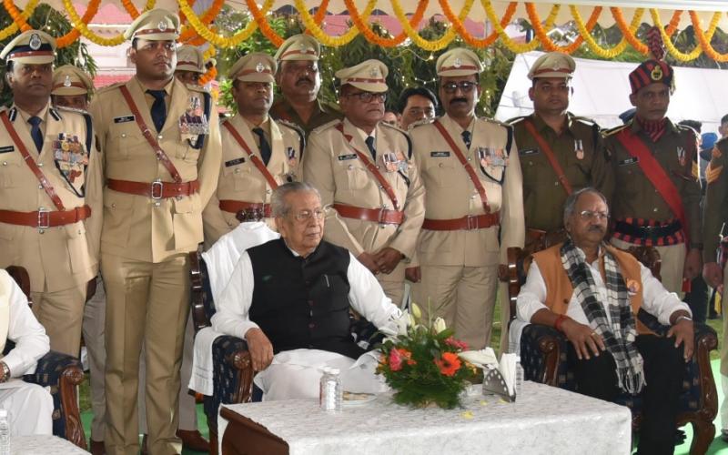
[[[495,117],[505,121],[533,112],[526,76],[541,52],[516,56]],[[628,75],[635,63],[606,62],[576,58],[574,94],[569,110],[593,119],[603,128],[622,124],[619,115],[632,107]],[[728,114],[728,85],[725,70],[675,67],[675,93],[667,115],[677,123],[691,119],[703,122],[703,133],[717,132],[721,117]]]

